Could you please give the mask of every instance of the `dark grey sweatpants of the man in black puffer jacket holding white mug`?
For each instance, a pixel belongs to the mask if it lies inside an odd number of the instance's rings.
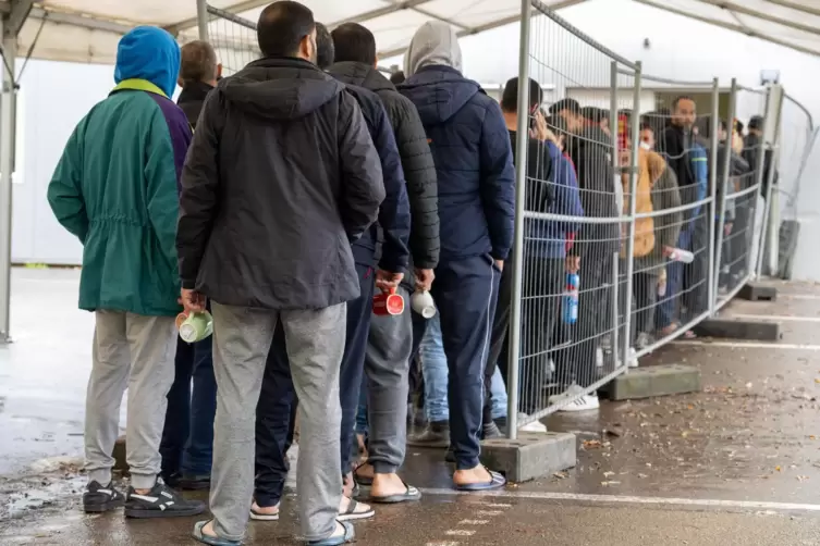
[[[409,293],[399,288],[406,302],[397,317],[374,314],[365,357],[368,406],[368,457],[379,474],[391,474],[404,463],[407,442],[407,389],[413,348]]]

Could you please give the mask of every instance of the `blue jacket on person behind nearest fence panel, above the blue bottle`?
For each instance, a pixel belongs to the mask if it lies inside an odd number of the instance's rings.
[[[552,176],[555,188],[555,200],[550,204],[549,212],[567,216],[565,221],[528,220],[526,222],[527,256],[534,258],[565,258],[566,236],[577,232],[580,223],[568,216],[584,215],[580,204],[578,178],[572,162],[552,142],[547,142],[552,159]]]

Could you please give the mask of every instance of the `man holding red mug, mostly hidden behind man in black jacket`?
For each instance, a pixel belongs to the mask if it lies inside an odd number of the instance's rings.
[[[317,64],[326,70],[333,63],[333,40],[325,25],[316,24]],[[353,244],[353,257],[359,277],[362,296],[347,302],[347,332],[339,379],[342,406],[342,475],[351,482],[353,425],[358,408],[358,394],[370,327],[374,287],[399,286],[407,268],[407,241],[411,229],[409,202],[405,189],[399,148],[390,122],[378,96],[367,89],[346,86],[362,108],[374,145],[379,152],[384,178],[385,198],[379,208],[379,225],[383,233],[379,278],[376,264],[376,225]],[[405,312],[409,312],[408,310]],[[256,491],[250,517],[277,519],[279,501],[287,476],[286,452],[293,440],[292,409],[296,398],[287,364],[284,335],[277,330],[262,381],[262,393],[256,412]],[[350,491],[346,491],[350,493]],[[369,506],[343,497],[340,521],[363,519],[374,514]]]

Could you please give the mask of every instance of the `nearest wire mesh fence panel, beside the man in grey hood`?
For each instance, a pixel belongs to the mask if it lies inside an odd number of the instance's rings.
[[[551,157],[553,174],[539,179],[519,169],[507,377],[509,415],[521,411],[518,425],[597,405],[587,395],[626,370],[619,333],[629,331],[631,313],[617,302],[619,293],[631,289],[629,260],[621,255],[635,231],[628,211],[636,157],[619,151],[619,140],[637,140],[637,123],[619,119],[640,108],[639,66],[540,2],[531,5],[519,80],[552,85],[562,100],[530,111],[524,125],[538,131],[546,123],[538,156]],[[579,110],[579,102],[587,108]],[[519,154],[517,161],[537,160]],[[555,196],[549,204],[533,199],[546,186]]]

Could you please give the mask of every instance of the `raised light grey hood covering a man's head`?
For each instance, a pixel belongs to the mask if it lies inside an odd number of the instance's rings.
[[[404,73],[407,77],[425,66],[443,65],[462,71],[462,48],[455,28],[441,21],[421,25],[404,54]]]

